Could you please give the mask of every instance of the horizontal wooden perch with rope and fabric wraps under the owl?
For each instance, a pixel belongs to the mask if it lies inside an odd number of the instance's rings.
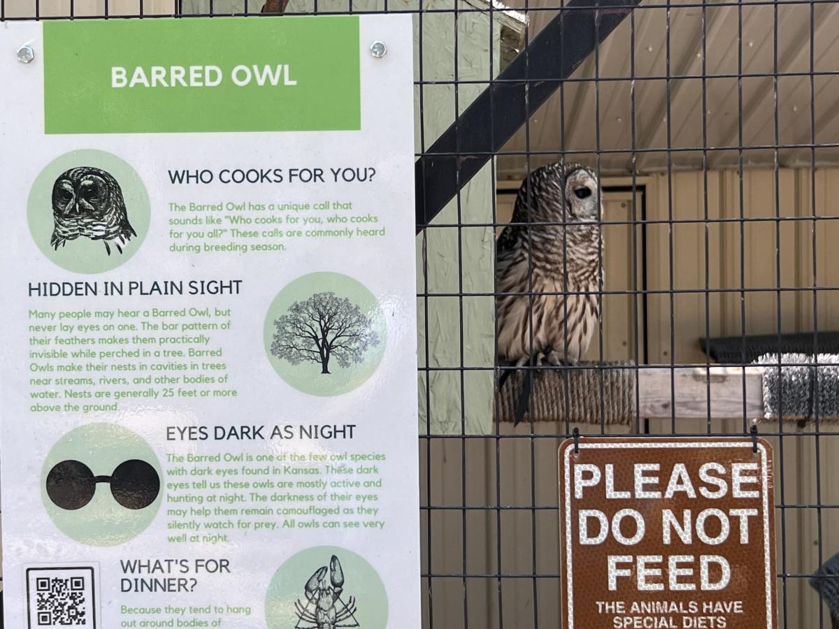
[[[635,366],[632,362],[532,373],[529,413],[534,422],[623,424],[638,419],[747,418],[839,421],[839,362],[784,354],[782,364],[749,366]],[[496,417],[512,421],[523,391],[519,370],[497,397]],[[710,407],[710,408],[709,408]]]

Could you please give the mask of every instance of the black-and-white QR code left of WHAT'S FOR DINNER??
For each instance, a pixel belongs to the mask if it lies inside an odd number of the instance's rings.
[[[92,567],[29,568],[29,629],[96,629]]]

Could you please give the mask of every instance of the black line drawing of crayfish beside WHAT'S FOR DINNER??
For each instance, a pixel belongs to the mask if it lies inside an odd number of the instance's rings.
[[[294,601],[299,620],[294,629],[337,629],[339,626],[357,626],[356,600],[350,596],[345,603],[341,599],[344,591],[344,571],[341,562],[333,554],[329,561],[329,581],[326,585],[326,566],[315,570],[305,585],[306,602]]]

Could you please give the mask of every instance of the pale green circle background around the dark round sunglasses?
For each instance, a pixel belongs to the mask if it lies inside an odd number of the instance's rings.
[[[62,509],[47,495],[47,475],[63,460],[81,461],[94,476],[111,476],[117,465],[132,459],[146,461],[160,477],[160,492],[149,507],[122,507],[107,483],[97,483],[93,499],[81,509]],[[41,500],[50,520],[67,537],[88,546],[116,546],[142,533],[163,502],[163,487],[163,471],[154,450],[138,434],[117,424],[86,424],[70,430],[55,442],[41,469]]]

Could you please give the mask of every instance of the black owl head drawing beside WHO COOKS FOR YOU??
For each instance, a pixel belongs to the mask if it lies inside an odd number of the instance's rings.
[[[117,179],[102,169],[77,166],[60,174],[53,185],[52,206],[55,229],[50,245],[55,249],[81,236],[104,242],[110,256],[111,245],[122,253],[137,236]]]

